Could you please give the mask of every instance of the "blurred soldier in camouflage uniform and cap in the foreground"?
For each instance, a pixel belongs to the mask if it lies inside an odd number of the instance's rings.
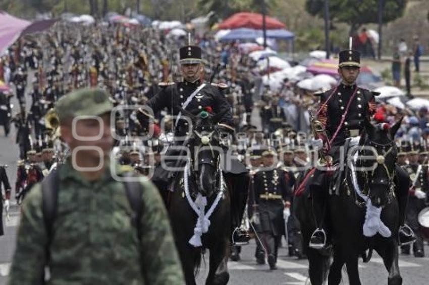
[[[184,284],[157,190],[144,179],[115,180],[114,171],[129,176],[117,164],[109,167],[112,107],[109,95],[97,89],[59,100],[61,136],[73,160],[24,200],[9,285],[40,283],[45,266],[50,284]],[[85,139],[99,133],[97,140]]]

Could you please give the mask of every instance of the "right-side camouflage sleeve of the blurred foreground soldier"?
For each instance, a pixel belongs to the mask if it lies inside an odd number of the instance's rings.
[[[167,211],[150,182],[143,183],[142,268],[147,284],[185,284]]]

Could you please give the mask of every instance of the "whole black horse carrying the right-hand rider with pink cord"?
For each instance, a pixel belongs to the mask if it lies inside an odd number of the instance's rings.
[[[376,250],[384,261],[389,272],[388,284],[402,284],[397,242],[399,208],[394,189],[397,179],[395,176],[397,149],[394,136],[400,124],[401,121],[391,128],[383,128],[381,125],[374,126],[365,121],[364,131],[357,146],[357,158],[353,158],[352,150],[347,155],[341,187],[338,191],[331,188],[332,195],[329,195],[329,191],[324,192],[329,223],[328,239],[332,240],[333,254],[331,252],[323,254],[308,247],[309,238],[316,228],[312,197],[308,192],[296,197],[296,215],[301,224],[312,284],[322,284],[327,277],[329,284],[339,284],[344,264],[349,283],[360,284],[358,259],[361,256],[364,261],[369,261],[372,250]],[[329,188],[329,180],[326,179],[325,189]],[[311,180],[308,183],[311,183]],[[300,182],[297,183],[299,184]],[[357,193],[356,188],[364,195],[363,198]],[[369,201],[374,207],[381,207],[381,221],[389,229],[391,233],[389,237],[383,237],[379,233],[372,237],[363,235],[362,228]],[[329,266],[332,257],[333,262]]]

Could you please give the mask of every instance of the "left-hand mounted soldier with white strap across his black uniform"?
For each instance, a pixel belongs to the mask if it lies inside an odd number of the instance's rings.
[[[153,121],[153,114],[156,114],[160,110],[167,108],[168,113],[172,114],[174,118],[175,138],[166,156],[176,156],[176,159],[170,157],[169,160],[165,160],[164,165],[170,169],[165,169],[163,164],[161,164],[160,167],[154,170],[156,176],[154,175],[152,178],[153,183],[158,186],[162,195],[168,193],[166,190],[170,188],[177,168],[181,167],[185,162],[183,158],[180,160],[177,156],[184,155],[180,148],[183,147],[186,137],[192,131],[190,126],[191,121],[187,119],[188,116],[182,113],[179,108],[182,108],[183,111],[191,115],[198,115],[201,111],[223,114],[219,120],[218,127],[224,133],[233,133],[235,130],[232,121],[231,106],[222,94],[222,90],[227,86],[203,82],[201,79],[201,73],[204,69],[201,59],[201,49],[198,46],[184,46],[180,48],[179,55],[184,81],[178,83],[160,83],[159,85],[162,89],[146,104],[152,112],[146,108],[142,108],[136,114],[142,128],[146,131],[149,130],[149,118]],[[172,171],[171,167],[176,168],[176,171]],[[246,171],[244,165],[242,168]],[[237,215],[240,215],[239,212],[241,212],[242,216],[243,212],[241,209],[244,210],[246,199],[238,199],[237,202],[240,205],[233,205],[233,208],[239,209],[237,210]],[[233,217],[233,220],[233,224],[236,225],[236,217]],[[241,221],[241,217],[239,220]],[[239,227],[240,224],[236,226]],[[235,242],[248,242],[249,237],[247,233],[240,230],[236,230],[234,233]]]

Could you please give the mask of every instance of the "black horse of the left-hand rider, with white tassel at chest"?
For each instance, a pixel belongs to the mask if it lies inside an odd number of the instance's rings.
[[[169,215],[186,284],[196,284],[195,275],[198,273],[201,254],[205,249],[210,251],[206,284],[227,284],[231,223],[230,195],[220,169],[222,148],[220,133],[216,126],[223,114],[211,115],[201,112],[199,116],[193,116],[183,109],[181,112],[193,122],[192,134],[185,142],[185,146],[190,151],[186,162],[189,167],[185,167],[186,170],[179,172],[176,176],[174,192],[169,204]],[[184,173],[187,169],[189,174],[185,179]],[[186,185],[189,197],[193,201],[197,197],[206,198],[205,213],[216,199],[219,201],[209,217],[208,231],[201,236],[201,246],[197,247],[191,245],[190,240],[195,233],[198,216],[187,199]]]

